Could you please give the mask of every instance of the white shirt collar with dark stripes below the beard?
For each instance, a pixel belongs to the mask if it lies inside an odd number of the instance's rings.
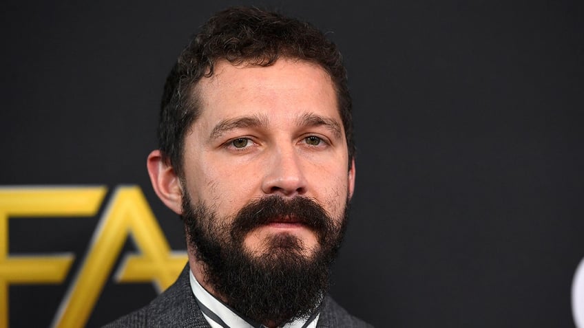
[[[202,311],[203,316],[212,328],[258,328],[263,325],[255,325],[240,317],[236,311],[222,303],[220,300],[211,295],[195,278],[192,271],[189,270],[189,280],[195,299]],[[319,314],[310,318],[298,319],[281,328],[316,328]],[[310,321],[309,321],[310,320]]]

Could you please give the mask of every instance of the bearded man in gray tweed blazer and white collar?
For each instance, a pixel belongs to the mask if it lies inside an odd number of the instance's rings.
[[[326,295],[355,186],[335,45],[255,8],[219,12],[163,95],[154,190],[183,218],[176,283],[110,327],[370,327]]]

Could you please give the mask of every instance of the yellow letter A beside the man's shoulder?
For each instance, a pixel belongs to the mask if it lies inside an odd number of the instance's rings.
[[[118,270],[118,281],[152,281],[159,292],[174,282],[187,263],[186,253],[171,252],[140,188],[120,187],[98,223],[85,262],[61,303],[53,327],[85,326],[130,233],[141,254],[127,256]]]

